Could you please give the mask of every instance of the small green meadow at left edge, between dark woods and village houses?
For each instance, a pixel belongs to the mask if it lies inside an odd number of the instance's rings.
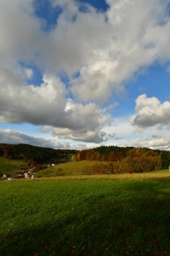
[[[0,173],[2,174],[17,172],[24,166],[27,166],[27,164],[23,160],[8,160],[7,158],[0,157]]]

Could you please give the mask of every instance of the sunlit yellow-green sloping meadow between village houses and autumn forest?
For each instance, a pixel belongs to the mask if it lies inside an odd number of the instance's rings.
[[[101,161],[91,161],[91,160],[83,160],[79,162],[67,162],[65,164],[56,164],[56,166],[52,166],[50,168],[46,168],[41,172],[38,172],[38,177],[54,177],[54,176],[62,176],[62,175],[77,175],[81,174],[83,170],[88,165],[93,165],[96,163],[108,164],[108,162]]]

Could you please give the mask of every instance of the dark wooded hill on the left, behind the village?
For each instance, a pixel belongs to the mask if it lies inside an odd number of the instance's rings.
[[[0,156],[23,159],[36,164],[67,162],[74,154],[77,154],[77,150],[55,150],[22,143],[16,145],[0,144]]]

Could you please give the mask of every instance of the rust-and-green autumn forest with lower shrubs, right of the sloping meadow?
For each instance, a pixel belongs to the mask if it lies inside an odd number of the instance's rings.
[[[89,166],[88,173],[125,173],[149,172],[169,167],[170,152],[151,150],[149,148],[133,148],[118,146],[101,146],[90,150],[81,150],[74,160],[98,160],[101,164]],[[103,161],[110,164],[103,164]]]

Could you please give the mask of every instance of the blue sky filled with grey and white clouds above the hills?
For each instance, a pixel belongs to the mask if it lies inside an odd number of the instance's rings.
[[[170,0],[0,0],[0,142],[170,150]]]

